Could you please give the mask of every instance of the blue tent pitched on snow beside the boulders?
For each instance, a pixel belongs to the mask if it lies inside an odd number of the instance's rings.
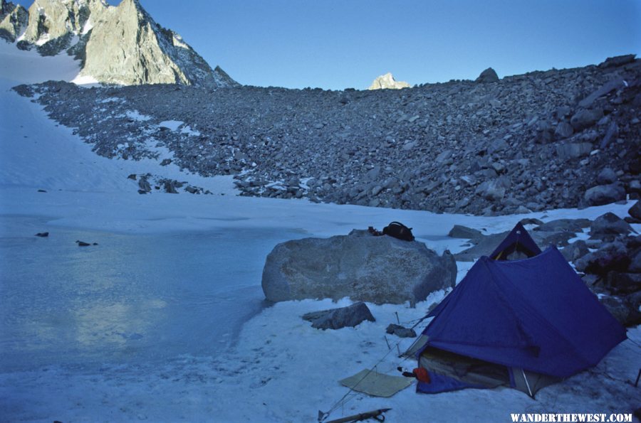
[[[522,226],[516,230],[508,238],[518,235],[528,251],[538,250]],[[509,385],[533,396],[596,365],[625,340],[625,328],[561,252],[538,252],[514,261],[481,257],[429,314],[418,356],[432,382],[417,390]]]

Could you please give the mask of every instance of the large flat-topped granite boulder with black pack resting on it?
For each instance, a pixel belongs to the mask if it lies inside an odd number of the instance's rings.
[[[262,286],[270,301],[341,299],[414,305],[432,291],[454,287],[457,264],[422,242],[372,236],[366,230],[276,245],[267,256]]]

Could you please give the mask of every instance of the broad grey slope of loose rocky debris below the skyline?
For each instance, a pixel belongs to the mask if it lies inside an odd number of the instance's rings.
[[[234,174],[245,196],[481,215],[639,198],[641,60],[491,80],[372,91],[46,82],[16,91],[37,94],[100,155],[169,149],[194,173]],[[167,120],[182,124],[160,127]]]

